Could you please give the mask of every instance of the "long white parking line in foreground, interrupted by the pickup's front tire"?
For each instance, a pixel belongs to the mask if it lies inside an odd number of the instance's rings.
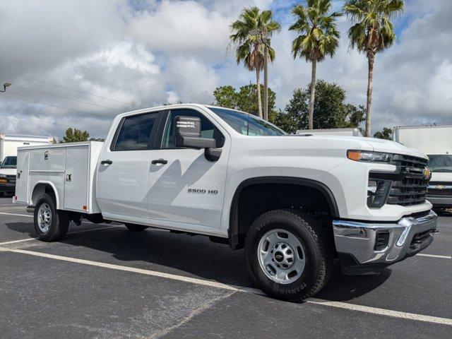
[[[101,267],[101,268],[109,268],[112,270],[122,270],[122,271],[126,271],[126,272],[138,273],[138,274],[143,274],[143,275],[152,275],[152,276],[159,277],[159,278],[166,278],[166,279],[177,280],[177,281],[182,281],[182,282],[186,282],[186,283],[193,283],[196,285],[221,288],[223,290],[232,290],[235,292],[256,293],[259,295],[263,295],[263,292],[261,290],[256,290],[254,288],[237,287],[237,286],[227,285],[227,284],[223,284],[223,283],[217,283],[215,281],[210,281],[210,280],[203,280],[203,279],[198,279],[198,278],[184,277],[182,275],[174,275],[174,274],[169,274],[169,273],[157,272],[155,270],[144,270],[142,268],[119,266],[119,265],[114,265],[111,263],[100,263],[97,261],[71,258],[68,256],[57,256],[54,254],[45,254],[45,253],[40,253],[40,252],[35,252],[35,251],[27,251],[27,250],[23,250],[23,249],[8,249],[5,247],[0,247],[0,251],[8,251],[8,252],[13,252],[13,253],[18,253],[18,254],[28,254],[30,256],[51,258],[51,259],[60,260],[60,261],[68,261],[71,263],[81,263],[84,265],[96,266],[96,267]],[[452,326],[452,319],[439,318],[436,316],[424,316],[422,314],[413,314],[413,313],[407,313],[407,312],[401,312],[401,311],[393,311],[390,309],[379,309],[376,307],[367,307],[367,306],[356,305],[356,304],[347,304],[345,302],[330,302],[328,300],[322,300],[322,299],[309,299],[309,300],[307,300],[307,303],[318,304],[318,305],[323,305],[323,306],[328,306],[328,307],[335,307],[335,308],[339,308],[339,309],[347,309],[350,311],[359,311],[359,312],[364,312],[364,313],[377,314],[377,315],[381,315],[381,316],[391,316],[391,317],[398,318],[398,319],[424,321],[427,323],[439,323],[442,325]]]

